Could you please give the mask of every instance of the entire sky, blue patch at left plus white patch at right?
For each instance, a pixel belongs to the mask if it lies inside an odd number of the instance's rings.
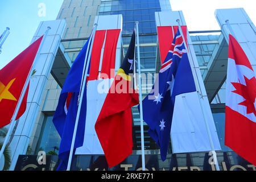
[[[216,9],[243,7],[256,23],[256,0],[170,0],[172,10],[182,10],[189,31],[220,30],[214,16]],[[46,6],[46,14],[40,3]],[[0,69],[14,59],[31,43],[41,21],[54,20],[63,0],[0,0],[0,34],[10,27],[10,35],[0,54]]]

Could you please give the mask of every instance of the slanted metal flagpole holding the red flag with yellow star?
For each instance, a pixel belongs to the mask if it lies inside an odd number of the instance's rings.
[[[10,124],[9,130],[8,130],[8,133],[7,133],[6,137],[5,137],[5,141],[3,142],[3,146],[2,146],[1,151],[0,151],[0,160],[1,160],[1,157],[2,157],[2,155],[3,155],[3,151],[5,151],[5,148],[6,148],[6,146],[7,146],[7,143],[9,142],[10,135],[11,135],[11,133],[13,132],[13,129],[14,129],[14,126],[15,126],[15,119],[16,119],[16,117],[17,117],[17,115],[18,115],[20,105],[22,104],[22,101],[23,101],[24,95],[25,95],[25,93],[26,93],[28,84],[29,84],[30,79],[31,79],[32,74],[33,74],[33,67],[34,67],[34,65],[35,65],[35,60],[38,59],[38,57],[39,57],[39,55],[40,55],[40,51],[41,51],[41,49],[42,49],[42,47],[43,47],[44,40],[46,40],[46,36],[47,36],[47,34],[48,34],[48,32],[49,32],[50,29],[51,29],[51,27],[47,27],[47,31],[46,31],[46,33],[44,34],[43,40],[42,40],[42,42],[41,42],[41,44],[40,44],[40,46],[39,46],[38,52],[36,53],[34,62],[33,62],[33,64],[32,64],[32,66],[31,66],[30,74],[28,75],[27,80],[26,80],[26,82],[25,82],[25,85],[23,86],[22,94],[21,94],[20,97],[19,97],[18,104],[17,104],[17,106],[16,106],[16,108],[15,108],[13,117],[11,118],[11,124]]]

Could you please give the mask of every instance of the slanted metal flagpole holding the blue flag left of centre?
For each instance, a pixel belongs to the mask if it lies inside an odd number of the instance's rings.
[[[94,37],[95,37],[96,30],[97,30],[97,24],[94,24],[93,33],[92,33],[92,36],[90,37],[89,43],[88,43],[88,46],[90,46],[90,48],[86,50],[86,55],[85,55],[84,71],[82,72],[81,90],[80,90],[80,94],[79,94],[79,107],[77,109],[77,114],[76,114],[76,123],[75,123],[72,143],[71,143],[71,150],[69,152],[67,171],[71,170],[72,156],[73,156],[73,151],[74,151],[74,147],[75,147],[77,127],[78,127],[78,123],[79,123],[79,117],[80,117],[81,106],[82,106],[82,98],[84,97],[87,73],[88,73],[89,64],[90,64],[89,59],[90,59],[90,56],[92,54],[92,47],[93,47],[92,44],[94,42]]]

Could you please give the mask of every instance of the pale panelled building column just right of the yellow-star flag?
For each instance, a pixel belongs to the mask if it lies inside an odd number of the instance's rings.
[[[10,149],[12,154],[12,163],[10,170],[14,170],[19,155],[26,154],[31,133],[34,129],[36,116],[38,115],[42,101],[43,91],[46,88],[46,83],[48,81],[65,26],[65,20],[41,22],[38,30],[36,30],[35,35],[32,38],[31,43],[44,35],[47,27],[51,27],[51,30],[49,30],[48,35],[42,44],[40,55],[35,60],[34,69],[36,70],[36,73],[30,80],[26,112],[20,119],[18,119],[18,121],[16,121],[15,129],[13,134],[11,134]]]

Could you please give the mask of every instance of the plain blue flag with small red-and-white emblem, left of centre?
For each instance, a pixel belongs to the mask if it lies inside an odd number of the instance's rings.
[[[68,158],[75,129],[76,115],[79,107],[79,95],[84,64],[89,64],[90,59],[89,58],[87,61],[85,60],[86,51],[90,47],[89,40],[85,43],[85,46],[82,48],[68,73],[63,85],[63,89],[60,93],[57,109],[53,117],[53,123],[61,138],[59,147],[60,164],[57,167],[58,171],[66,170],[68,166]],[[77,127],[73,155],[75,155],[76,148],[81,147],[82,143],[84,142],[86,119],[86,84],[84,96],[83,98],[80,98],[80,101],[82,102],[81,113]]]

